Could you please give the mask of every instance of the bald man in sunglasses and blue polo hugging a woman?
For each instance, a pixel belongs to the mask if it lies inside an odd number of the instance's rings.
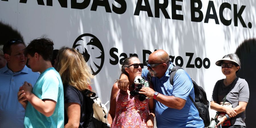
[[[174,66],[170,62],[168,53],[161,49],[151,53],[146,64],[148,70],[143,69],[142,77],[147,78],[150,72],[154,90],[143,87],[140,93],[155,99],[156,126],[158,128],[203,128],[203,120],[189,99],[190,95],[195,100],[193,83],[189,75],[183,69],[177,70],[174,84],[171,85],[168,69]],[[120,89],[127,89],[127,81],[127,76],[122,74],[118,83]]]

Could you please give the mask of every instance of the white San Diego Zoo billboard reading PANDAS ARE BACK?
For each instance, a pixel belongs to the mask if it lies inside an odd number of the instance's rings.
[[[225,77],[215,62],[256,37],[255,0],[1,0],[0,19],[26,43],[47,35],[55,49],[79,49],[103,103],[122,61],[136,54],[144,62],[155,49],[167,51],[210,100]]]

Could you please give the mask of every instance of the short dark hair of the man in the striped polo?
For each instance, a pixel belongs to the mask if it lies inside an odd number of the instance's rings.
[[[5,54],[8,54],[8,55],[11,55],[11,46],[12,45],[17,45],[17,44],[23,44],[25,47],[25,43],[22,39],[11,39],[11,40],[8,40],[4,46],[3,46],[3,53]]]

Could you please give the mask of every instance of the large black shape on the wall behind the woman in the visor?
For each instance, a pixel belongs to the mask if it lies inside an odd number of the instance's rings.
[[[236,54],[241,60],[241,70],[237,73],[237,77],[245,79],[249,85],[249,102],[246,107],[246,127],[255,127],[255,113],[256,113],[256,38],[245,40],[237,49]]]

